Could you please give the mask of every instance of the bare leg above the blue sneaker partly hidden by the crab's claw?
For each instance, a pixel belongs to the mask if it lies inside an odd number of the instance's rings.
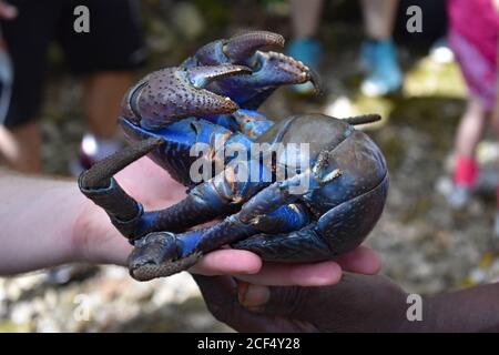
[[[322,0],[291,0],[291,18],[294,38],[315,37],[318,29]]]

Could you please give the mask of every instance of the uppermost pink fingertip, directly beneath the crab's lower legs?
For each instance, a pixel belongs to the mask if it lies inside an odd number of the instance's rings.
[[[206,276],[256,274],[262,260],[247,251],[217,250],[203,256],[190,271]]]

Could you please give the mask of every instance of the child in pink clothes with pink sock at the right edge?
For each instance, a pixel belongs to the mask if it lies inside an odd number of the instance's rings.
[[[448,0],[447,8],[448,43],[468,89],[467,109],[455,138],[454,189],[448,194],[449,204],[459,209],[469,201],[477,182],[476,149],[482,138],[488,116],[491,118],[492,129],[499,134],[497,98],[499,1]],[[496,216],[495,232],[499,235],[499,212]]]

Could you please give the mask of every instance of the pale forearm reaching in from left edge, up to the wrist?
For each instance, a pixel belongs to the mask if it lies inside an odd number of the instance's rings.
[[[73,261],[73,226],[86,203],[72,181],[0,169],[0,275]]]

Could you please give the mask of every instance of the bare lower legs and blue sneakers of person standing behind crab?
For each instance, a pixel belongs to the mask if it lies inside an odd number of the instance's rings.
[[[366,39],[360,47],[360,63],[366,71],[360,90],[366,95],[385,95],[400,88],[401,71],[391,33],[397,14],[397,0],[363,0]],[[287,53],[314,70],[320,63],[320,43],[316,39],[322,0],[291,0],[294,39]],[[312,92],[310,85],[294,87],[298,92]]]

